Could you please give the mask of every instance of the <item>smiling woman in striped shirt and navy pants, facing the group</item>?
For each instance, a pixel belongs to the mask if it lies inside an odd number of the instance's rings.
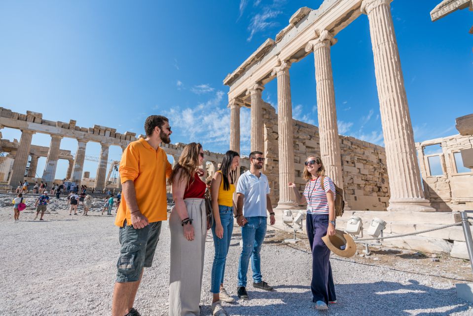
[[[312,301],[318,310],[327,310],[327,304],[336,303],[330,262],[330,249],[322,237],[335,235],[335,186],[324,175],[325,168],[319,157],[310,156],[305,161],[304,178],[308,181],[304,193],[294,190],[299,204],[307,202],[307,236],[312,249]],[[322,185],[322,181],[324,181]]]

